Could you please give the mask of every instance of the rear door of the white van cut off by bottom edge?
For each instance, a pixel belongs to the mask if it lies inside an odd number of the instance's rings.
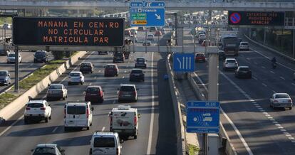
[[[115,137],[95,137],[93,154],[116,154],[118,148]]]

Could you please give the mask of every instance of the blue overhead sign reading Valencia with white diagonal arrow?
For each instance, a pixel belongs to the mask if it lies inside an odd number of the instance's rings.
[[[164,1],[133,1],[130,3],[130,26],[165,26]]]

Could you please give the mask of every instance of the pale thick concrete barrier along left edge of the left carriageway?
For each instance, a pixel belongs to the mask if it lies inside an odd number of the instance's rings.
[[[29,102],[29,96],[36,97],[38,93],[42,92],[48,87],[48,84],[61,76],[68,68],[70,68],[71,65],[76,63],[79,58],[83,57],[85,54],[86,51],[81,51],[76,55],[73,55],[73,57],[54,70],[50,75],[46,76],[43,80],[24,92],[23,95],[17,97],[16,100],[11,102],[9,105],[6,105],[6,107],[0,110],[0,118],[2,120],[10,119],[14,114],[16,114],[16,112],[19,112],[19,110],[21,110],[27,102]]]

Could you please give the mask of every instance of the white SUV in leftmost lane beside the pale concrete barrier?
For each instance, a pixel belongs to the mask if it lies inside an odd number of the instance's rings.
[[[51,119],[51,104],[46,100],[29,100],[24,110],[24,123],[30,120],[44,120],[46,123]]]

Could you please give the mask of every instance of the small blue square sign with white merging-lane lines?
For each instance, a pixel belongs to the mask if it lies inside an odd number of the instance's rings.
[[[195,54],[175,53],[173,55],[173,71],[195,72]]]

